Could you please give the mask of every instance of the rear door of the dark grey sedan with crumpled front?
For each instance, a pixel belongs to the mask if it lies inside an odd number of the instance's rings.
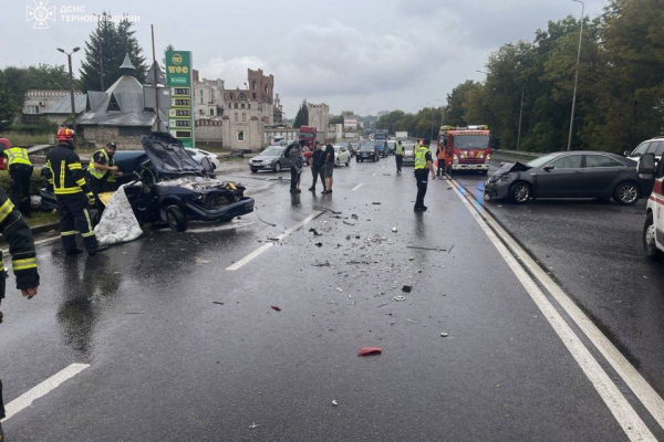
[[[583,197],[611,197],[620,180],[627,172],[627,167],[608,155],[585,156],[583,170]]]

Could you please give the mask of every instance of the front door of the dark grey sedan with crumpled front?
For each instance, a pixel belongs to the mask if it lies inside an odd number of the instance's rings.
[[[536,197],[571,198],[582,193],[583,155],[564,155],[537,170]]]

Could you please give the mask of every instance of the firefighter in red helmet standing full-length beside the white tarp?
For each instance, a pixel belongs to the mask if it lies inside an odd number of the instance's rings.
[[[46,155],[45,168],[58,200],[60,236],[65,253],[83,252],[76,248],[76,233],[81,233],[87,253],[94,255],[108,246],[100,245],[94,235],[89,212],[89,207],[94,204],[94,194],[85,182],[81,159],[74,152],[74,137],[70,128],[58,130],[60,144]]]

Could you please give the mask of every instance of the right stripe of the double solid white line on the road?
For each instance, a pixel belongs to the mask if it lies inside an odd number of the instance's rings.
[[[476,209],[477,210],[477,209]],[[528,270],[539,280],[539,282],[551,293],[556,301],[562,306],[567,314],[572,320],[579,326],[581,330],[588,336],[588,338],[600,350],[606,361],[613,367],[613,369],[620,375],[625,381],[627,387],[634,392],[647,411],[657,421],[660,427],[664,429],[664,399],[654,388],[647,383],[647,381],[639,373],[639,371],[627,361],[627,359],[620,352],[618,348],[600,332],[600,329],[593,324],[593,322],[583,314],[581,308],[574,304],[574,302],[560,288],[558,284],[547,275],[547,273],[540,267],[526,251],[511,238],[511,235],[505,231],[496,222],[494,217],[480,208],[480,214],[485,218],[487,223],[494,228],[500,238],[507,243],[507,245],[517,254],[519,260]]]

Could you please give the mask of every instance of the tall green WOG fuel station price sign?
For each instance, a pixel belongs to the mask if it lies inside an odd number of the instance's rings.
[[[168,130],[183,145],[194,147],[191,52],[166,51],[166,82],[170,87]]]

